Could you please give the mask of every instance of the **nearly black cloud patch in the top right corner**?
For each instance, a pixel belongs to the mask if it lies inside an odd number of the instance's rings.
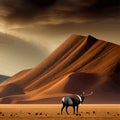
[[[97,0],[90,9],[95,15],[120,17],[120,0]]]

